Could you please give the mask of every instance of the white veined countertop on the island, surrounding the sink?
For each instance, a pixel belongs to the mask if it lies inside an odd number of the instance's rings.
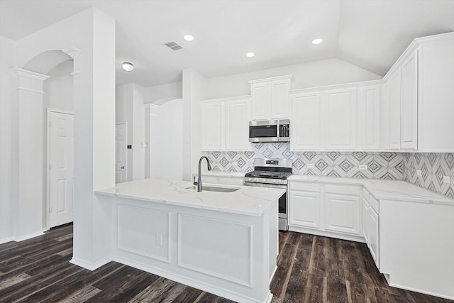
[[[192,182],[172,182],[162,179],[145,179],[116,184],[116,187],[96,190],[95,194],[116,196],[142,201],[187,206],[199,209],[224,211],[248,216],[262,216],[285,189],[245,187],[221,184],[204,184],[239,188],[236,192],[197,192],[187,189]]]

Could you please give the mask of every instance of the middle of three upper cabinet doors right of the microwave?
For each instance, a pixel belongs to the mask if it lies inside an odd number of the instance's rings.
[[[357,138],[356,88],[323,93],[326,150],[355,150]]]

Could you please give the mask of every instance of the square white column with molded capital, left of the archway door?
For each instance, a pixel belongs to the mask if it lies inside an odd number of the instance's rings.
[[[43,81],[49,76],[13,68],[13,238],[43,233]]]

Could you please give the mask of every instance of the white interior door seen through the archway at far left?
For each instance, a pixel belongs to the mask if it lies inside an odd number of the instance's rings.
[[[74,116],[49,112],[49,226],[72,222]]]

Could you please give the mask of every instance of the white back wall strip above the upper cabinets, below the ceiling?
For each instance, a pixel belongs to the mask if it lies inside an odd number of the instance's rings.
[[[287,65],[268,70],[209,78],[207,99],[244,96],[250,94],[248,80],[283,75],[294,76],[295,81],[292,83],[292,89],[382,79],[381,76],[372,72],[363,70],[343,60],[332,58],[299,65]]]

